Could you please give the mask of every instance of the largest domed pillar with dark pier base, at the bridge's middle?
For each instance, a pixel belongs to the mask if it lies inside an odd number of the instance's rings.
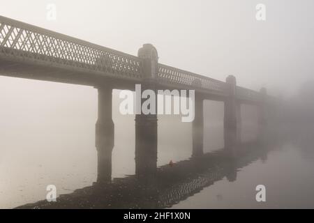
[[[155,83],[156,73],[158,72],[157,50],[153,45],[145,44],[139,50],[138,56],[143,61],[144,69],[141,89],[142,91],[147,89],[152,90],[157,96]],[[146,100],[144,99],[140,102],[141,108],[143,102]],[[137,114],[135,116],[135,174],[140,178],[149,178],[156,174],[158,146],[157,122],[157,114]]]

